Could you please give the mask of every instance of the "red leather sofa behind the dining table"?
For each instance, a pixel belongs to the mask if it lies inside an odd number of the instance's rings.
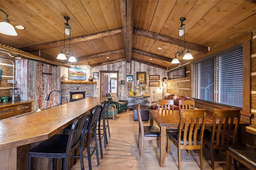
[[[179,100],[188,100],[185,96],[175,96],[174,94],[166,93],[164,95],[164,99],[173,100],[174,102],[174,110],[179,109]],[[161,106],[160,106],[161,107]],[[154,101],[151,103],[150,109],[158,110],[158,101]]]

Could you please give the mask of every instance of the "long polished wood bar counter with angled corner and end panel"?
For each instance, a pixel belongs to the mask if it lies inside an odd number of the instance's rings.
[[[0,120],[0,170],[19,169],[17,147],[49,139],[72,124],[76,117],[90,111],[106,99],[90,97],[20,117]],[[23,165],[25,164],[27,162],[23,162]]]

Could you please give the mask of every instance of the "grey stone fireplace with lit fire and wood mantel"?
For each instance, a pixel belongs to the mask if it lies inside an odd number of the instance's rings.
[[[74,102],[82,98],[96,96],[96,85],[96,82],[95,84],[85,84],[81,82],[67,81],[60,84],[60,91],[62,97],[66,97],[69,102]],[[74,96],[73,99],[72,96]]]

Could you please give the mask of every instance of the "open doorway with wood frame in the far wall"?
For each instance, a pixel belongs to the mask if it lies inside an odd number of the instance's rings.
[[[118,94],[119,71],[100,71],[100,96],[106,97],[107,93]]]

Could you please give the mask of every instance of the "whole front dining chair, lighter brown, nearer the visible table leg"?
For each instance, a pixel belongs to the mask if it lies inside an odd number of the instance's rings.
[[[205,109],[181,109],[178,131],[167,131],[168,140],[178,149],[178,168],[181,169],[181,149],[199,150],[200,169],[203,169],[203,135]]]

